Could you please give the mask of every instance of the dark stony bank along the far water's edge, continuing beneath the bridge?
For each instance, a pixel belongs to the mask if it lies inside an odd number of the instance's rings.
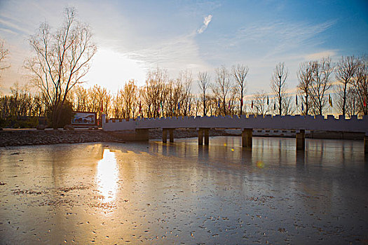
[[[0,147],[4,146],[32,146],[48,144],[75,144],[85,142],[121,142],[132,141],[134,131],[103,130],[1,130]],[[210,137],[240,136],[240,130],[211,129]],[[196,129],[178,129],[174,131],[174,138],[197,137]],[[292,130],[254,130],[254,137],[295,137]],[[355,139],[362,140],[364,134],[351,132],[306,132],[306,138],[313,139]],[[162,130],[149,130],[149,139],[162,139]]]

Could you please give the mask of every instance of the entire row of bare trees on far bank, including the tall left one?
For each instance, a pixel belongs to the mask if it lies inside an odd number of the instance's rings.
[[[270,92],[261,90],[249,96],[248,66],[220,66],[210,73],[194,74],[186,69],[170,78],[166,69],[157,67],[146,74],[144,85],[129,80],[123,88],[110,92],[95,85],[83,87],[97,46],[90,27],[76,20],[74,8],[66,8],[64,24],[53,30],[47,23],[29,37],[33,56],[25,60],[29,71],[27,87],[15,85],[11,95],[0,97],[2,120],[25,116],[47,116],[58,127],[64,114],[71,111],[102,113],[107,118],[158,118],[172,116],[235,116],[254,114],[323,115],[334,111],[345,116],[367,115],[368,59],[366,56],[341,57],[336,64],[329,57],[299,64],[299,83],[288,90],[289,71],[279,63],[271,73]],[[8,68],[4,42],[0,42],[0,69]],[[198,92],[192,92],[194,86]],[[292,92],[290,92],[292,91]]]

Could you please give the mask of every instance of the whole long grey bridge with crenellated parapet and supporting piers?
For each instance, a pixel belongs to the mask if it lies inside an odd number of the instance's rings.
[[[368,152],[368,116],[358,119],[353,116],[345,119],[339,116],[335,119],[329,115],[323,116],[265,116],[265,117],[179,117],[179,118],[137,118],[136,120],[108,120],[103,115],[102,125],[105,131],[135,130],[137,140],[148,140],[148,130],[161,128],[163,142],[167,141],[168,132],[170,142],[174,141],[173,130],[177,128],[196,128],[198,130],[198,144],[209,142],[210,128],[240,129],[242,130],[243,147],[252,147],[252,129],[296,130],[297,149],[304,149],[305,130],[362,132],[364,137],[364,152]]]

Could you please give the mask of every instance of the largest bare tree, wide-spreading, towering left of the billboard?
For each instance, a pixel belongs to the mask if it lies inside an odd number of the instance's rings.
[[[88,25],[76,20],[74,8],[66,8],[64,23],[54,33],[47,22],[41,24],[29,44],[35,56],[26,60],[25,68],[44,94],[57,128],[67,95],[83,83],[97,48]]]

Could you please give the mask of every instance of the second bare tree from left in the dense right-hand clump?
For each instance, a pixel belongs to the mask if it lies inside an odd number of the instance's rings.
[[[313,86],[311,87],[311,99],[315,115],[322,115],[323,109],[328,104],[327,92],[332,87],[329,83],[334,66],[329,57],[315,62],[313,69]]]

